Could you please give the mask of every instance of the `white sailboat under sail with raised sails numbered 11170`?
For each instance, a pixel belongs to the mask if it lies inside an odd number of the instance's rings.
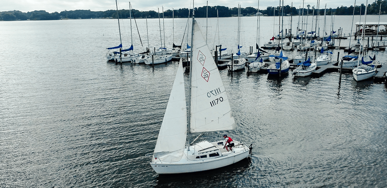
[[[249,147],[235,140],[233,151],[223,148],[224,140],[190,144],[192,132],[236,128],[215,61],[199,25],[194,18],[192,20],[191,56],[197,58],[192,58],[190,63],[188,120],[183,66],[180,60],[154,152],[146,155],[151,158],[150,164],[158,174],[191,173],[221,168],[247,158],[250,151]]]

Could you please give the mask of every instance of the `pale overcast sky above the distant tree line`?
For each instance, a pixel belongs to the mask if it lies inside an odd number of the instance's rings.
[[[368,0],[368,4],[374,2],[375,0]],[[281,1],[282,2],[282,1]],[[284,0],[284,5],[291,5],[293,2],[293,7],[302,7],[302,0]],[[154,10],[157,11],[157,8],[161,6],[164,7],[164,10],[174,8],[190,8],[192,7],[192,0],[131,0],[130,3],[132,7],[140,11]],[[225,6],[229,8],[238,7],[240,3],[241,7],[258,7],[258,0],[209,0],[208,6]],[[317,0],[305,0],[305,8],[307,4],[311,6],[315,5]],[[324,8],[325,3],[327,8],[337,8],[341,5],[351,6],[354,3],[354,0],[324,0],[320,1],[320,8]],[[356,5],[359,3],[366,4],[365,0],[357,1]],[[91,11],[105,11],[116,9],[115,0],[0,0],[0,12],[9,11],[9,10],[20,10],[21,12],[31,12],[34,10],[45,10],[46,12],[61,12],[63,10],[91,10]],[[206,0],[195,0],[195,7],[203,7],[206,5]],[[279,0],[260,0],[259,8],[266,9],[266,7],[277,7],[279,5]],[[118,9],[129,9],[129,0],[123,1],[118,0]]]

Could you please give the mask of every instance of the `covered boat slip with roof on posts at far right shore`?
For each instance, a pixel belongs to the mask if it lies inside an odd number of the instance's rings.
[[[363,22],[356,22],[356,32],[355,36],[361,36],[363,32]],[[379,30],[379,32],[378,32]],[[387,22],[365,22],[365,36],[387,36]]]

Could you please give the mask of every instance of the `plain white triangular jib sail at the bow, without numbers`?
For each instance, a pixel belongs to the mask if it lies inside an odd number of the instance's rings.
[[[180,161],[187,139],[187,108],[182,64],[180,59],[153,153],[154,158],[165,162]]]

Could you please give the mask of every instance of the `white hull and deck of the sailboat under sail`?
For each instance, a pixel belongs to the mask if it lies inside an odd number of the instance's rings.
[[[153,157],[151,166],[158,174],[190,173],[221,168],[247,158],[250,151],[247,146],[234,140],[233,151],[227,151],[223,148],[224,142],[196,143],[190,146],[190,151],[185,149],[178,162],[164,162]]]

